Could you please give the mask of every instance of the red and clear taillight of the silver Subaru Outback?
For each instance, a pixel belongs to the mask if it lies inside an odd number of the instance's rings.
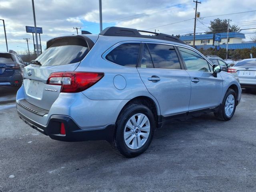
[[[54,72],[50,74],[47,84],[61,85],[60,92],[77,93],[88,89],[98,82],[104,73],[98,72]]]

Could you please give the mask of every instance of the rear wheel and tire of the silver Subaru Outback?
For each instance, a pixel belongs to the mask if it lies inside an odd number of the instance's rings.
[[[150,145],[156,122],[152,111],[142,104],[130,104],[116,121],[112,148],[124,157],[142,154]]]

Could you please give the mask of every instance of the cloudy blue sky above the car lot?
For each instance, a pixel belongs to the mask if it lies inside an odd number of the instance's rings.
[[[232,20],[230,24],[237,24],[241,29],[256,28],[256,0],[201,2],[198,4],[201,19],[197,22],[196,32],[205,32],[210,20],[215,18],[229,18]],[[76,34],[73,27],[94,34],[100,31],[98,0],[34,0],[34,3],[36,24],[43,28],[43,50],[46,41],[51,38]],[[194,8],[193,0],[102,0],[103,28],[122,26],[168,34],[189,34],[194,28]],[[238,12],[247,13],[232,14]],[[223,14],[229,15],[216,16]],[[29,48],[33,50],[32,34],[26,33],[25,29],[25,26],[34,25],[31,0],[0,0],[0,19],[4,19],[6,24],[9,49],[26,51],[27,44],[23,38],[30,38]],[[246,34],[245,41],[249,41],[250,36],[255,36],[252,33],[256,29],[241,32]],[[0,51],[6,51],[1,20]]]

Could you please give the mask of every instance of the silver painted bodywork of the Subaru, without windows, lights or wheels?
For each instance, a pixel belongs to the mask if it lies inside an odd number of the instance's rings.
[[[90,37],[91,35],[86,36]],[[18,111],[27,118],[42,125],[46,125],[52,115],[66,115],[70,116],[82,129],[104,128],[106,125],[116,122],[120,111],[129,100],[138,96],[146,96],[155,102],[158,115],[168,116],[190,110],[190,78],[194,76],[202,78],[202,83],[204,82],[206,84],[201,85],[201,87],[207,88],[207,91],[202,91],[196,88],[196,85],[193,85],[195,87],[194,98],[192,99],[194,103],[191,103],[191,106],[193,106],[191,110],[220,104],[226,90],[232,84],[238,86],[238,99],[240,100],[240,85],[234,76],[226,72],[220,72],[218,78],[214,79],[212,73],[207,73],[206,76],[206,73],[186,70],[137,69],[119,66],[104,59],[104,53],[108,52],[112,46],[120,42],[143,42],[145,41],[144,38],[119,36],[98,36],[97,38],[97,36],[93,36],[93,40],[96,44],[81,63],[61,66],[27,66],[24,72],[25,82],[20,90],[18,90],[17,101],[25,98],[31,104],[49,110],[49,114],[41,117],[20,106],[17,106]],[[146,41],[170,44],[169,41],[165,40],[146,39]],[[190,46],[180,43],[172,42],[171,45],[192,49]],[[196,52],[200,54],[200,52]],[[207,60],[207,58],[205,59]],[[32,71],[32,76],[27,76],[28,70]],[[74,70],[104,72],[104,77],[94,86],[80,93],[59,93],[60,86],[45,84],[48,76],[52,72]],[[178,74],[175,77],[171,77],[177,72]],[[146,80],[147,76],[150,77],[152,74],[161,76],[159,83],[148,82]],[[116,82],[116,85],[114,83],[114,78],[117,75],[123,77],[125,80],[126,86],[122,90],[117,88],[120,86],[118,82]],[[221,78],[223,81],[221,81]],[[35,86],[32,89],[32,94],[30,94],[30,85],[33,80],[40,82],[40,85]],[[147,86],[149,83],[151,85]],[[124,81],[121,82],[121,85],[123,84]],[[160,85],[160,88],[158,85]],[[168,87],[165,88],[164,86],[167,85]],[[200,86],[200,84],[198,85]],[[55,89],[58,92],[46,93],[44,88]],[[157,93],[154,88],[159,89],[159,92]],[[35,93],[36,91],[38,91],[37,94]],[[217,97],[213,99],[213,102],[209,99],[212,96]]]

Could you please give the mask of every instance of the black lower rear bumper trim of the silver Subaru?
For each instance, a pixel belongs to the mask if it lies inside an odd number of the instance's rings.
[[[19,117],[29,126],[39,132],[59,141],[76,142],[89,140],[111,141],[114,135],[115,124],[109,124],[100,129],[81,129],[69,116],[52,115],[46,126],[42,126],[18,111]],[[60,124],[64,123],[66,134],[60,134]]]

